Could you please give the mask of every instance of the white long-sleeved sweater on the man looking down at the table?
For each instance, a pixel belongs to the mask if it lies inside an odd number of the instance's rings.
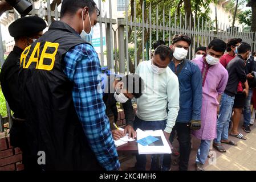
[[[137,98],[137,117],[144,121],[161,121],[167,119],[165,130],[172,131],[178,110],[180,109],[180,93],[178,77],[167,67],[164,73],[155,74],[151,68],[152,61],[141,62],[136,73],[143,78],[145,89]],[[167,103],[169,112],[167,114]]]

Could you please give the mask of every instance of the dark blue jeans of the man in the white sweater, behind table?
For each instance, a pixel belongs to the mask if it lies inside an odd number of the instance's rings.
[[[137,116],[135,117],[135,121],[133,123],[134,129],[137,130],[138,128],[141,130],[164,130],[166,126],[166,119],[162,121],[144,121]],[[161,170],[162,166],[162,159],[164,155],[152,155],[151,156],[151,171],[158,171]],[[160,160],[157,160],[157,158],[160,158]],[[146,169],[146,155],[136,155],[136,164],[135,168],[138,171],[145,171]],[[160,164],[157,162],[160,161]]]

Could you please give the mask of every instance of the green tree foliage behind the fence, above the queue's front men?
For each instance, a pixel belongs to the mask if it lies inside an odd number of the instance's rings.
[[[168,22],[169,18],[169,13],[171,17],[174,16],[175,13],[177,13],[177,23],[182,25],[186,24],[189,25],[189,18],[191,15],[192,18],[192,26],[193,26],[193,14],[195,16],[196,22],[199,19],[200,22],[202,19],[209,21],[209,4],[214,2],[214,0],[206,0],[206,1],[200,1],[200,0],[147,0],[146,6],[145,6],[145,11],[144,11],[144,22],[147,21],[149,17],[149,4],[152,6],[152,23],[155,22],[162,24],[163,18],[165,18],[165,24]],[[128,18],[129,20],[134,20],[134,4],[136,8],[136,18],[137,21],[141,20],[142,17],[142,7],[143,7],[144,0],[130,0],[130,6],[129,6],[129,14]],[[156,19],[156,9],[159,9],[159,18]],[[163,15],[163,10],[165,10],[165,14]],[[181,19],[179,19],[179,15],[181,14]],[[185,14],[186,14],[186,19],[185,19]],[[164,17],[163,17],[164,16]],[[174,18],[171,19],[171,23],[174,23]],[[200,24],[201,26],[201,24]],[[137,30],[137,35],[140,37],[142,34],[142,30]],[[165,34],[165,40],[168,39],[167,34]],[[128,37],[129,37],[129,43],[134,43],[134,37],[133,37],[133,30],[131,28],[128,31]],[[162,37],[162,34],[159,32],[159,37]],[[144,43],[147,42],[149,39],[149,31],[145,28],[145,39]],[[156,32],[152,31],[152,40],[156,40]],[[125,40],[126,41],[126,40]],[[140,39],[137,39],[137,64],[139,64],[139,60],[141,60],[142,53],[143,53],[143,43]],[[134,61],[129,57],[129,68],[131,72],[134,72]]]

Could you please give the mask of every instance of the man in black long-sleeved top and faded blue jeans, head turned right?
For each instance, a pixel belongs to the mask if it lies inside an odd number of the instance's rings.
[[[251,46],[245,42],[241,42],[237,48],[238,54],[233,60],[227,64],[227,72],[229,73],[229,80],[227,81],[227,86],[222,94],[220,115],[217,121],[217,137],[214,139],[213,147],[220,152],[226,152],[225,148],[221,143],[230,144],[236,146],[237,143],[229,140],[228,130],[229,130],[229,120],[232,113],[232,107],[234,104],[235,94],[237,94],[237,86],[239,81],[247,84],[247,75],[245,73],[245,63],[250,56]],[[248,84],[247,84],[248,86]],[[246,97],[248,95],[248,90],[243,89]]]

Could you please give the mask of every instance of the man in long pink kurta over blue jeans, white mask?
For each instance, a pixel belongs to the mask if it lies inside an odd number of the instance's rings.
[[[226,43],[220,39],[213,39],[206,52],[207,55],[192,60],[201,69],[202,74],[202,110],[201,129],[192,135],[201,139],[197,151],[196,170],[204,171],[204,164],[208,157],[211,142],[216,138],[217,109],[220,104],[221,94],[227,84],[227,71],[219,63],[220,57],[226,50]],[[218,74],[216,74],[218,73]]]

